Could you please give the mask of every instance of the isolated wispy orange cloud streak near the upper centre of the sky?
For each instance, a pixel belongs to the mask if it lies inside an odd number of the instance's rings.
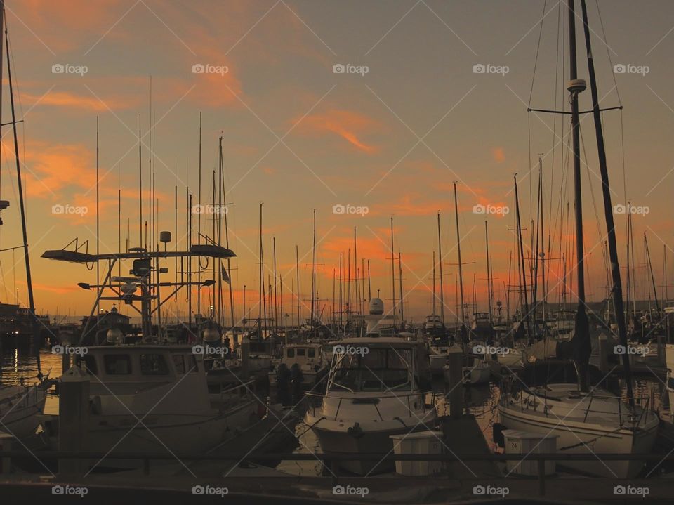
[[[323,114],[312,114],[304,119],[296,119],[294,124],[298,124],[299,130],[306,134],[321,136],[324,133],[334,133],[368,154],[379,150],[378,146],[366,143],[362,137],[381,129],[381,125],[358,112],[330,109]]]

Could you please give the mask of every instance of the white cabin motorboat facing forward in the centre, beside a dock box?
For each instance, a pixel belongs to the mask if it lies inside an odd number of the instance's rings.
[[[391,435],[435,426],[432,402],[425,401],[428,365],[423,343],[397,337],[361,337],[336,342],[324,395],[309,407],[311,427],[323,452],[393,452]],[[432,393],[430,393],[432,395]],[[340,461],[359,475],[381,473],[390,462]]]

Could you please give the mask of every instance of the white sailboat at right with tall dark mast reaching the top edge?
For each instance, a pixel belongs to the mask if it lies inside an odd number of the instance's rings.
[[[593,116],[600,158],[604,217],[607,222],[609,254],[612,270],[613,301],[616,310],[620,341],[627,346],[625,318],[616,235],[613,222],[610,186],[604,151],[601,110],[597,98],[594,62],[590,49],[590,29],[585,0],[581,0],[583,25],[588,55],[588,71],[593,102]],[[600,388],[588,386],[590,334],[585,303],[583,266],[583,213],[581,204],[579,93],[585,91],[586,81],[579,79],[576,68],[576,12],[575,0],[568,2],[570,81],[567,89],[571,103],[571,130],[573,133],[574,181],[576,205],[576,273],[578,275],[578,307],[575,314],[574,335],[569,345],[560,343],[560,358],[569,357],[578,372],[578,383],[559,383],[510,391],[506,388],[498,405],[501,425],[508,429],[538,433],[542,438],[557,437],[557,451],[581,454],[647,453],[653,448],[659,417],[647,408],[637,407],[632,390],[630,362],[623,354],[626,373],[627,402]],[[564,352],[566,351],[566,352]],[[633,478],[642,470],[642,461],[602,461],[600,457],[588,461],[564,461],[576,471],[609,478]]]

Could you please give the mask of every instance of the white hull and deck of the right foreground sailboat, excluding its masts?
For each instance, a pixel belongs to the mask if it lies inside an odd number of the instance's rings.
[[[660,422],[648,409],[633,410],[599,388],[581,393],[576,384],[548,384],[504,394],[501,424],[511,430],[557,438],[557,451],[573,454],[651,452]],[[642,461],[560,461],[576,471],[608,478],[634,478]]]

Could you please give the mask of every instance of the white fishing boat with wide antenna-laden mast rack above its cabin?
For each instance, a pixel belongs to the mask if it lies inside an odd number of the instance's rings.
[[[169,242],[170,233],[161,237]],[[144,454],[147,452],[204,452],[218,443],[245,433],[259,419],[258,402],[249,393],[250,385],[238,386],[211,394],[207,386],[204,355],[209,355],[209,335],[197,336],[196,346],[162,344],[157,332],[160,327],[152,324],[151,304],[159,299],[153,293],[159,287],[172,287],[175,292],[199,284],[213,285],[213,280],[202,282],[159,282],[161,261],[167,257],[180,258],[187,263],[190,258],[231,258],[234,253],[216,244],[193,244],[188,251],[147,251],[131,248],[128,252],[88,254],[69,249],[46,251],[42,255],[68,263],[106,263],[107,273],[100,285],[79,283],[83,289],[96,289],[96,310],[100,300],[133,305],[140,302],[140,340],[126,343],[128,339],[120,329],[108,330],[103,346],[87,346],[86,352],[75,353],[72,367],[60,381],[78,377],[88,379],[91,410],[83,433],[88,450],[92,452]],[[131,260],[130,275],[112,275],[117,261]],[[104,293],[112,291],[110,296]],[[160,308],[161,306],[159,306]],[[161,317],[161,316],[159,316]],[[91,318],[89,318],[91,320]],[[90,329],[82,329],[79,341],[86,338]],[[242,382],[242,381],[239,381]],[[141,420],[142,422],[139,422]],[[52,423],[53,431],[58,423]],[[138,461],[105,461],[104,466],[136,466]],[[98,465],[98,464],[97,464]],[[100,466],[100,465],[99,465]]]

